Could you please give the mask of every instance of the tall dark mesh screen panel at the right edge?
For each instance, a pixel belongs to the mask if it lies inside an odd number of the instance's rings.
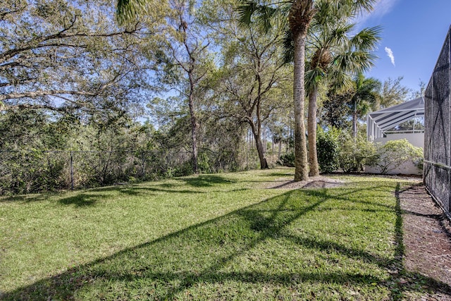
[[[451,211],[451,30],[425,93],[424,182]]]

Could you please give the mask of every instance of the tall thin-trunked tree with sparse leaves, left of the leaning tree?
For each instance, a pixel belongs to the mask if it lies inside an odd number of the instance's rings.
[[[156,3],[152,0],[119,0],[118,18],[123,22],[139,17],[146,18],[149,9],[154,9]],[[166,20],[159,26],[161,48],[150,51],[149,55],[161,59],[164,65],[163,80],[187,99],[191,122],[192,168],[194,173],[197,173],[197,97],[200,93],[200,81],[212,68],[208,54],[209,41],[206,33],[198,26],[196,1],[168,0],[163,1],[163,4],[168,8],[160,12]]]

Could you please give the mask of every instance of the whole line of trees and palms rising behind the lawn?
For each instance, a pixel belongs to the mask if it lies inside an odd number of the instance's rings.
[[[357,137],[412,96],[363,75],[381,28],[353,20],[373,2],[3,1],[0,149],[188,152],[188,174],[247,168],[249,130],[260,168],[283,143],[295,180],[316,176],[318,126]]]

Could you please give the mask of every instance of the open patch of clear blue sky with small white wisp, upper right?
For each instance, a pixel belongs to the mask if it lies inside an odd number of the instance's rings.
[[[402,85],[419,90],[427,83],[451,25],[451,0],[378,0],[359,28],[381,25],[379,59],[367,76],[382,82],[403,76]],[[389,56],[391,54],[391,58]]]

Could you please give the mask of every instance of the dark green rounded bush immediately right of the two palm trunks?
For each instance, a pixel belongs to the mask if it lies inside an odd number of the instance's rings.
[[[338,156],[340,154],[339,134],[340,132],[336,129],[325,132],[322,128],[318,128],[316,152],[318,155],[319,169],[323,173],[331,173],[340,167],[338,162]]]

